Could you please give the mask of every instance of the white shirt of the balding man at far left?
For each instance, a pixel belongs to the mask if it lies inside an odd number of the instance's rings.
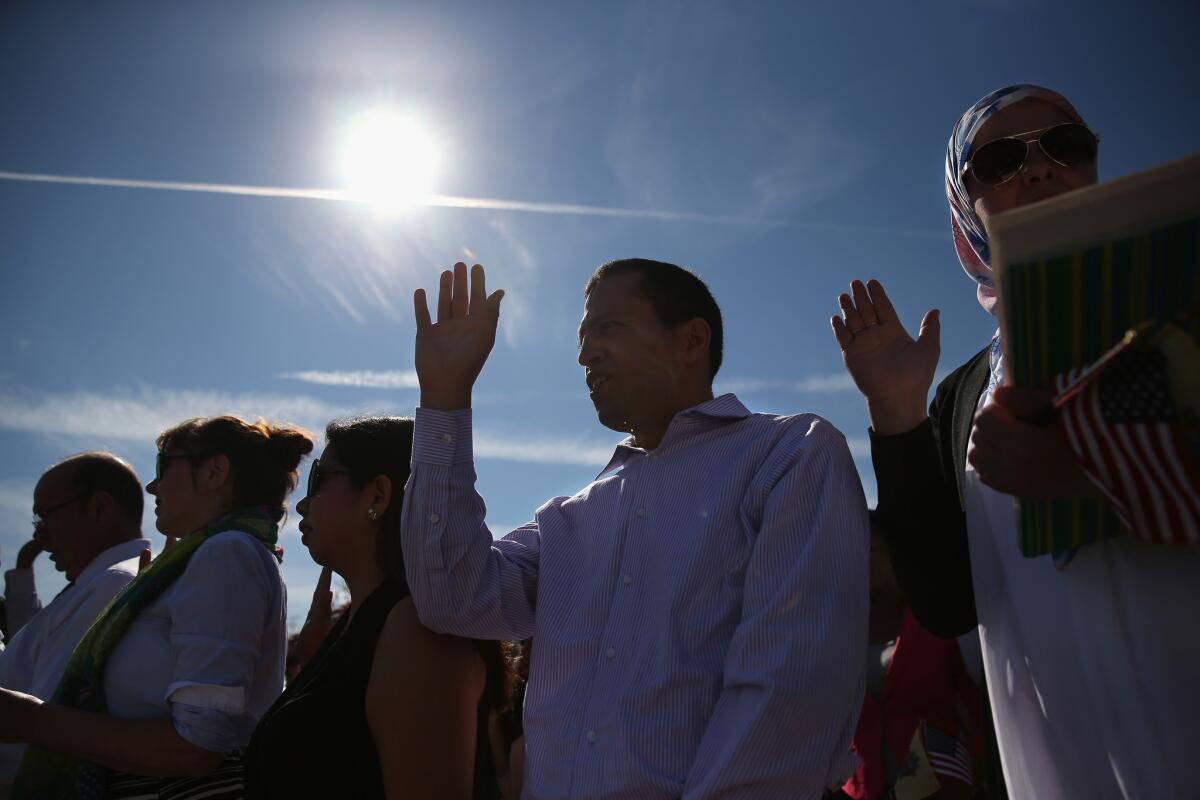
[[[34,614],[0,652],[0,686],[49,699],[79,639],[138,573],[138,557],[149,547],[145,539],[134,539],[94,558],[74,583]],[[12,781],[24,750],[24,745],[0,745],[0,787]]]

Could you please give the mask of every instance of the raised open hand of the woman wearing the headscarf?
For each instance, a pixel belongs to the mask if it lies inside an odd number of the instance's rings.
[[[845,315],[829,320],[846,371],[866,397],[877,434],[904,433],[920,425],[941,354],[937,309],[925,312],[917,338],[908,336],[878,281],[853,281],[838,296]]]

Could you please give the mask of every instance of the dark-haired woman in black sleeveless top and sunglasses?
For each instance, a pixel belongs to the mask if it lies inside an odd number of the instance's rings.
[[[298,505],[301,541],[350,607],[254,730],[250,798],[497,798],[487,740],[500,645],[433,633],[404,581],[413,421],[330,423]]]

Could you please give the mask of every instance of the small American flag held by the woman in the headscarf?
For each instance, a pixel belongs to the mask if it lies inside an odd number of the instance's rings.
[[[1187,337],[1180,329],[1166,335]],[[1092,367],[1060,374],[1056,405],[1084,471],[1138,539],[1196,545],[1195,420],[1176,407],[1170,379],[1172,367],[1194,372],[1198,365],[1172,365],[1157,347],[1162,338],[1139,331]],[[1141,345],[1146,339],[1152,342]],[[1178,348],[1172,350],[1174,357]]]

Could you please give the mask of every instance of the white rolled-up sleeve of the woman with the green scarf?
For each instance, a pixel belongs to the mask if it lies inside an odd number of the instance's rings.
[[[172,675],[166,700],[179,734],[228,752],[248,741],[247,712],[270,609],[282,593],[266,549],[224,533],[192,555],[170,599]]]

